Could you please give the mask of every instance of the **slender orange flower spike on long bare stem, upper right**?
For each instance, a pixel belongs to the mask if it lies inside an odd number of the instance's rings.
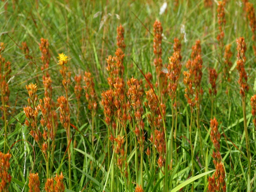
[[[249,86],[247,84],[247,73],[245,71],[245,52],[246,52],[246,44],[244,42],[244,38],[240,37],[236,39],[237,44],[237,61],[236,61],[236,68],[239,71],[239,80],[238,83],[240,85],[240,94],[244,98],[249,90]]]

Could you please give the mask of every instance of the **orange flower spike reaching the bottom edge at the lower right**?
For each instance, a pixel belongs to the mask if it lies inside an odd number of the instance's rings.
[[[224,164],[222,163],[221,154],[220,154],[220,139],[221,134],[218,131],[218,122],[215,119],[211,119],[210,121],[211,133],[210,137],[215,148],[212,149],[212,158],[213,164],[215,166],[215,173],[212,177],[208,178],[208,191],[209,192],[226,192],[226,182],[225,182],[225,170]]]

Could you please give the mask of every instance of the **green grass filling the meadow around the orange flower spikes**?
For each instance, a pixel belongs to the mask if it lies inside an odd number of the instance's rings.
[[[172,2],[172,1],[171,1]],[[46,163],[41,155],[40,148],[34,139],[29,135],[29,129],[25,126],[25,115],[23,107],[27,105],[28,94],[26,85],[30,82],[38,84],[38,96],[44,97],[44,87],[42,83],[42,72],[40,70],[41,52],[38,44],[40,38],[46,38],[49,41],[51,61],[49,64],[49,74],[52,78],[53,93],[52,98],[57,103],[58,96],[65,95],[62,85],[62,77],[59,73],[58,53],[68,55],[68,67],[71,73],[71,85],[69,89],[70,104],[70,122],[79,129],[76,137],[77,146],[73,148],[71,142],[71,186],[67,191],[94,191],[100,192],[105,187],[105,192],[111,191],[111,182],[113,181],[113,191],[126,191],[122,175],[114,164],[115,175],[111,175],[108,170],[108,128],[105,124],[103,107],[101,105],[101,93],[109,89],[107,82],[108,72],[105,70],[107,62],[105,58],[108,55],[114,55],[116,51],[116,27],[121,23],[125,29],[125,86],[126,82],[132,76],[138,80],[142,79],[144,87],[146,80],[136,67],[138,64],[143,73],[151,72],[153,81],[156,82],[156,73],[154,67],[153,53],[153,24],[154,21],[160,20],[163,26],[163,64],[168,64],[168,57],[173,53],[173,39],[181,39],[183,34],[180,32],[182,26],[186,31],[186,39],[182,40],[181,55],[182,70],[186,70],[186,61],[188,61],[192,52],[192,45],[197,39],[201,40],[202,59],[203,59],[203,78],[202,88],[204,95],[201,102],[200,122],[201,134],[196,129],[196,119],[193,120],[192,143],[194,145],[194,166],[195,191],[207,191],[205,172],[214,168],[212,163],[212,142],[209,137],[209,122],[211,118],[211,99],[209,97],[209,67],[220,65],[220,55],[216,36],[218,34],[217,5],[212,8],[204,7],[204,1],[183,0],[179,6],[173,10],[172,3],[168,3],[166,12],[159,15],[160,7],[163,2],[159,1],[83,1],[83,0],[5,0],[0,3],[0,42],[6,44],[6,50],[3,57],[11,62],[12,73],[9,81],[10,100],[8,116],[8,145],[7,148],[12,154],[10,173],[12,183],[9,191],[26,191],[28,192],[29,172],[38,172],[41,181],[41,191],[44,191],[44,182],[46,179]],[[13,9],[13,5],[15,9]],[[7,9],[5,10],[5,6]],[[254,3],[254,7],[256,4]],[[233,67],[230,71],[231,81],[230,95],[228,98],[225,93],[227,84],[221,78],[222,70],[218,68],[217,96],[214,102],[213,116],[218,119],[219,131],[221,133],[221,157],[224,162],[226,171],[227,191],[255,191],[256,181],[254,180],[255,154],[256,154],[256,137],[253,117],[251,115],[250,97],[255,94],[255,56],[253,53],[252,32],[247,20],[243,5],[239,6],[237,1],[230,0],[227,2],[226,9],[227,24],[225,27],[224,44],[232,44]],[[239,73],[236,70],[236,38],[243,36],[247,44],[247,62],[246,71],[248,74],[248,84],[250,87],[246,99],[246,117],[247,127],[250,140],[251,165],[252,172],[248,174],[248,161],[246,152],[246,143],[244,137],[243,109],[242,100],[239,94],[239,84],[237,83]],[[32,55],[32,64],[26,60],[22,50],[21,43],[26,41],[29,47],[29,54]],[[91,115],[87,108],[87,101],[84,92],[81,96],[80,115],[77,121],[77,101],[74,94],[75,81],[74,76],[78,73],[84,74],[84,71],[92,73],[95,82],[96,94],[98,96],[98,110],[94,119],[94,146],[91,143]],[[178,122],[177,122],[177,161],[174,159],[172,170],[169,172],[167,180],[172,183],[172,191],[177,191],[180,183],[185,182],[191,177],[191,152],[189,143],[189,123],[190,108],[184,97],[183,75],[180,77],[178,88]],[[83,81],[82,81],[83,84]],[[145,90],[147,91],[147,90]],[[127,101],[127,99],[125,99]],[[143,103],[146,101],[143,93]],[[231,103],[229,105],[229,102]],[[172,127],[172,106],[169,96],[166,97],[166,133],[168,147],[170,148],[169,135]],[[143,104],[144,106],[144,104]],[[148,138],[151,131],[145,114],[148,113],[144,108],[143,122],[145,123],[145,144],[143,157],[143,180],[144,190],[163,191],[163,173],[157,167],[150,169],[148,157],[145,154],[147,147],[152,145]],[[56,108],[59,115],[59,108]],[[40,114],[39,114],[40,116]],[[193,115],[195,117],[195,115]],[[59,116],[58,116],[59,118]],[[38,118],[39,119],[39,118]],[[40,119],[39,119],[40,120]],[[38,125],[40,122],[38,121]],[[129,186],[127,191],[134,191],[136,187],[135,175],[135,157],[140,158],[134,149],[134,135],[129,131],[127,126],[128,137],[128,180]],[[71,127],[71,136],[75,128]],[[4,122],[1,121],[0,150],[3,151],[4,143]],[[201,157],[200,137],[203,143],[203,157]],[[26,140],[26,142],[24,142]],[[15,143],[16,142],[16,143]],[[69,168],[67,154],[64,153],[67,148],[67,135],[61,123],[58,125],[58,131],[55,140],[54,164],[50,175],[56,172],[63,172],[65,176],[66,189],[69,189]],[[26,148],[26,150],[25,150]],[[111,154],[112,157],[112,147]],[[113,156],[114,157],[114,156]],[[174,151],[175,157],[175,151]],[[150,159],[152,161],[152,157]],[[139,166],[140,166],[139,161]],[[111,162],[113,164],[113,161]],[[140,174],[140,172],[139,172]],[[202,174],[200,178],[198,175]],[[139,175],[140,176],[140,175]],[[139,177],[140,178],[140,177]],[[140,180],[140,179],[139,179]],[[191,183],[183,186],[183,191],[191,190]],[[170,186],[170,184],[169,184]],[[171,188],[169,187],[169,191]]]

